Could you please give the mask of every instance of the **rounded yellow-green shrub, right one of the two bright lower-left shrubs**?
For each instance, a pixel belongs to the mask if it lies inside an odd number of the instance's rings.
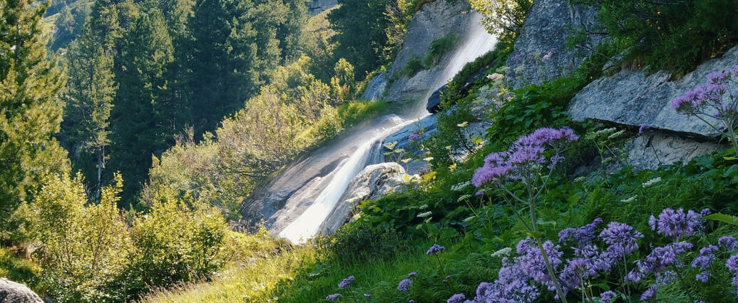
[[[211,206],[186,201],[159,195],[151,212],[134,221],[131,239],[137,254],[128,268],[130,288],[193,281],[224,265],[224,217]]]

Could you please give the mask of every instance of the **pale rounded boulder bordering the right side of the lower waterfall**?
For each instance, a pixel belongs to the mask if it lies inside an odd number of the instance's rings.
[[[356,204],[382,197],[390,192],[400,190],[405,184],[405,170],[400,164],[389,162],[373,164],[365,167],[348,184],[348,188],[339,199],[327,219],[321,224],[320,232],[333,234],[344,223],[351,220]]]

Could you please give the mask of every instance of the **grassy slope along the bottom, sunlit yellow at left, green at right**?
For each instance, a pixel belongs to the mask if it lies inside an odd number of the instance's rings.
[[[452,243],[441,243],[450,247]],[[296,248],[266,260],[234,267],[212,282],[182,285],[162,290],[143,298],[141,303],[165,302],[322,302],[331,293],[342,293],[344,302],[351,302],[351,293],[372,302],[437,302],[459,290],[473,292],[476,285],[492,276],[497,262],[489,255],[473,254],[464,249],[441,254],[441,264],[425,251],[432,245],[428,240],[415,240],[389,260],[349,262],[348,265],[326,261],[312,246]],[[417,272],[409,293],[396,290],[397,284]],[[339,290],[342,279],[355,276],[351,287]],[[446,282],[443,280],[450,276]]]

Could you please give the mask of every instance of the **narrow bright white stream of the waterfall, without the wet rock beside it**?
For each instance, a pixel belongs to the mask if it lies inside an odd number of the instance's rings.
[[[367,136],[366,139],[359,142],[354,153],[348,156],[348,159],[339,164],[334,170],[335,173],[332,175],[331,181],[320,191],[320,195],[317,195],[314,202],[299,217],[280,231],[280,237],[289,239],[292,243],[303,243],[308,238],[317,234],[320,225],[327,220],[328,215],[331,214],[336,208],[337,203],[340,202],[339,200],[351,183],[351,179],[361,173],[364,167],[371,164],[368,163],[368,159],[375,159],[376,156],[379,156],[373,153],[383,152],[382,148],[373,150],[371,148],[373,144],[377,141],[381,142],[385,137],[415,122],[417,119],[427,116],[428,112],[425,110],[425,102],[430,97],[430,94],[451,80],[466,63],[475,60],[480,55],[484,55],[494,48],[497,38],[489,35],[480,26],[479,15],[475,13],[472,18],[472,22],[469,22],[469,29],[465,32],[465,39],[459,44],[455,52],[452,53],[451,58],[446,60],[446,66],[444,66],[443,72],[435,78],[433,85],[428,88],[424,99],[416,101],[413,110],[406,116],[404,122],[390,127],[379,125],[359,130],[357,132],[358,136],[365,136],[365,134],[375,135]],[[337,144],[342,144],[342,142],[337,142]]]

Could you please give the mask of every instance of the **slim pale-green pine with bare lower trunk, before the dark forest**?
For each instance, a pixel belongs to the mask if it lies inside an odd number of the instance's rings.
[[[66,55],[69,77],[62,95],[66,102],[62,129],[66,139],[75,144],[72,150],[78,151],[77,162],[84,161],[80,155],[83,153],[91,153],[97,162],[95,198],[100,198],[103,184],[106,148],[110,144],[110,111],[117,91],[110,52],[103,49],[86,24],[83,35],[70,45]],[[85,167],[80,164],[75,167]]]

